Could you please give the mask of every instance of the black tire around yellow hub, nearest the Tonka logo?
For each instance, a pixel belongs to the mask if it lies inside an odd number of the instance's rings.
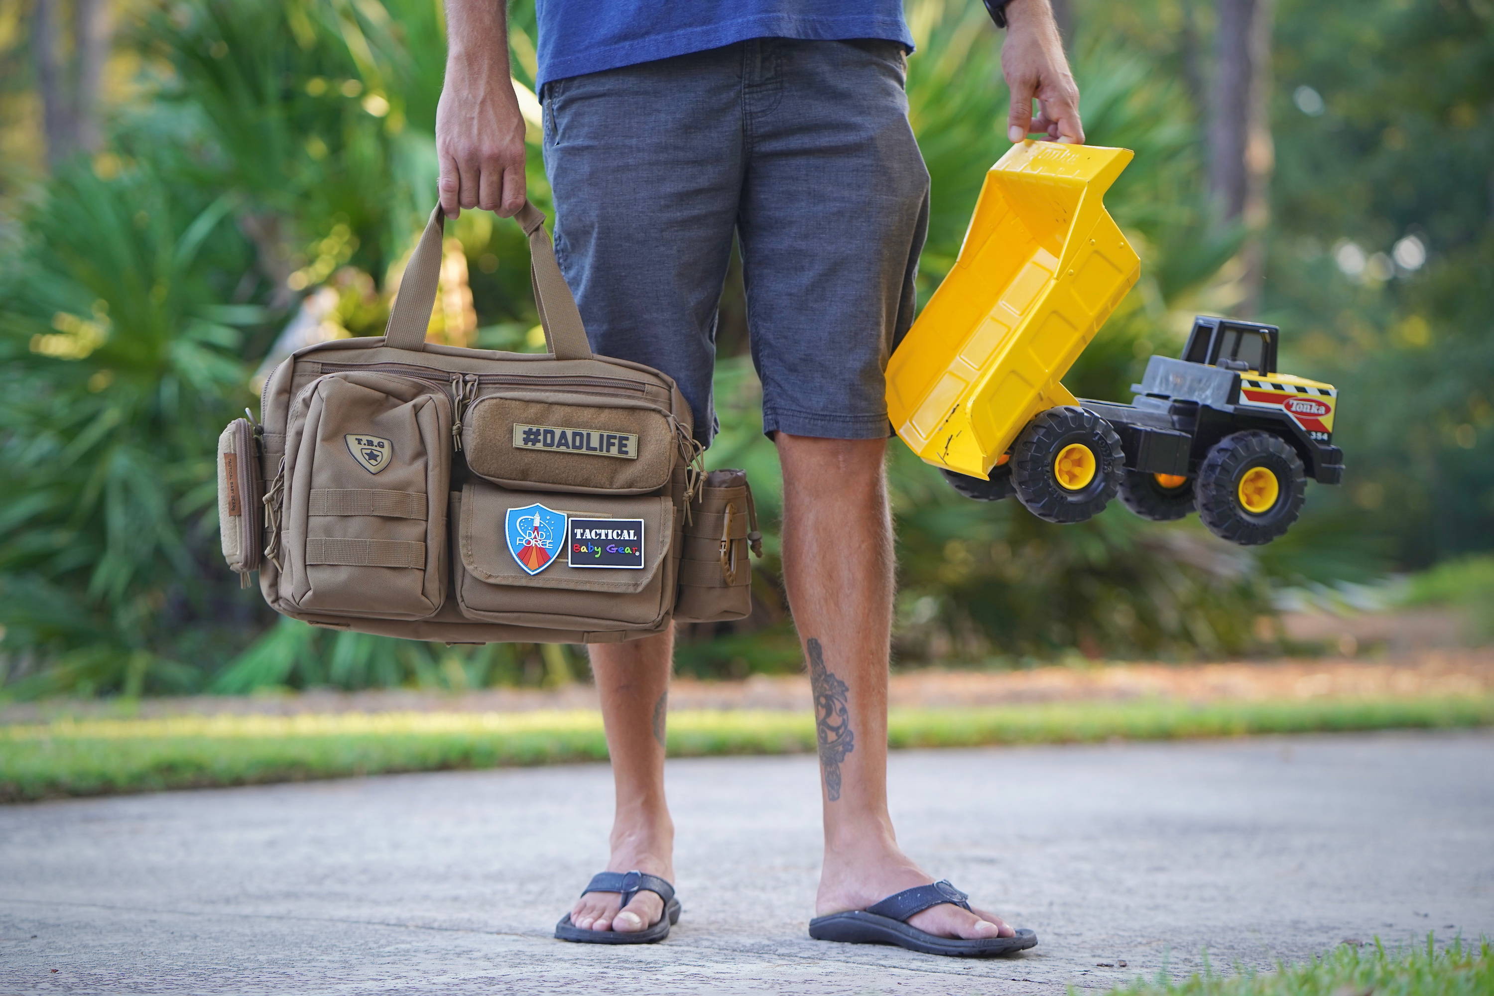
[[[1276,475],[1276,503],[1255,514],[1240,505],[1240,478],[1250,467]],[[1303,511],[1307,476],[1301,457],[1280,436],[1239,432],[1213,445],[1194,485],[1198,518],[1219,539],[1242,547],[1259,547],[1285,533]]]

